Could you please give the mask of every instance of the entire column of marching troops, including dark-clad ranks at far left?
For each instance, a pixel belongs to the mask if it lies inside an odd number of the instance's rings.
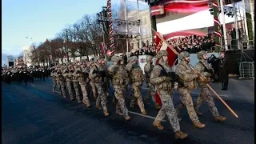
[[[8,79],[14,79],[15,74],[22,74],[24,82],[31,77],[32,82],[34,78],[45,78],[49,75],[53,78],[53,91],[56,88],[59,94],[66,98],[67,94],[70,100],[76,100],[79,103],[84,103],[90,107],[90,100],[96,100],[95,107],[102,110],[105,116],[109,115],[106,103],[109,96],[109,87],[112,84],[114,88],[113,102],[116,104],[116,113],[122,116],[126,121],[130,120],[128,108],[126,107],[126,91],[128,86],[131,87],[130,107],[138,106],[143,115],[146,115],[144,102],[152,99],[154,107],[158,110],[158,114],[154,119],[153,125],[158,130],[163,130],[161,125],[162,120],[168,117],[170,125],[174,130],[175,138],[186,138],[188,134],[180,130],[179,111],[186,106],[187,113],[195,128],[204,128],[206,125],[199,121],[198,116],[202,115],[199,111],[199,106],[202,102],[206,102],[211,113],[214,116],[214,121],[223,122],[226,120],[218,114],[218,109],[214,104],[214,98],[210,94],[210,90],[206,84],[212,81],[210,73],[210,65],[207,62],[206,51],[198,52],[199,62],[194,66],[194,72],[190,68],[190,54],[186,51],[179,54],[180,62],[176,67],[175,72],[172,71],[168,65],[168,57],[166,50],[160,50],[156,55],[158,64],[154,66],[152,57],[146,57],[146,66],[144,67],[145,75],[140,66],[138,66],[138,58],[132,56],[128,58],[127,65],[124,64],[122,57],[112,56],[110,66],[107,66],[104,58],[96,57],[94,61],[67,63],[63,65],[54,66],[53,69],[47,70],[18,70],[18,71],[2,71],[2,78],[7,83]],[[51,72],[50,72],[51,71]],[[9,78],[10,76],[10,78]],[[21,76],[17,81],[21,82]],[[203,78],[203,80],[200,80]],[[142,99],[142,84],[146,82],[149,87],[146,98]],[[90,87],[90,89],[89,89]],[[193,102],[191,97],[191,90],[200,88],[201,92],[198,96],[197,102]],[[172,95],[174,90],[178,90],[181,104],[174,106]],[[162,106],[156,102],[155,93],[159,94]],[[91,98],[89,98],[91,97]]]

